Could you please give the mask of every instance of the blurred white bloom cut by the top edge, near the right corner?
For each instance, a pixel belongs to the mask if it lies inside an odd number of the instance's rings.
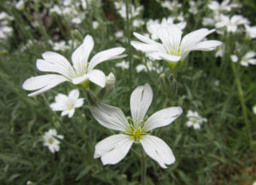
[[[220,13],[223,11],[230,12],[232,8],[239,7],[239,4],[237,3],[230,3],[230,0],[224,0],[222,3],[218,3],[218,1],[212,1],[208,8],[212,9],[215,13]]]

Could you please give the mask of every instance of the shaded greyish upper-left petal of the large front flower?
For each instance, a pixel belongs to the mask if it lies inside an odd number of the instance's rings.
[[[95,107],[90,108],[90,112],[102,126],[108,129],[124,132],[129,130],[129,124],[125,118],[125,114],[118,107],[108,106],[104,103],[96,103]]]

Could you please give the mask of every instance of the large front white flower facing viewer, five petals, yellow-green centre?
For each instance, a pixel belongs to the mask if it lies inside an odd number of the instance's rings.
[[[90,109],[94,118],[108,129],[118,130],[119,134],[108,136],[96,144],[94,158],[101,158],[103,165],[114,165],[124,159],[132,143],[141,143],[149,157],[159,163],[162,168],[175,162],[172,150],[159,137],[151,136],[155,128],[171,124],[182,113],[181,107],[162,109],[148,119],[145,115],[153,99],[153,92],[148,84],[137,87],[131,94],[131,118],[118,107],[97,103]]]

